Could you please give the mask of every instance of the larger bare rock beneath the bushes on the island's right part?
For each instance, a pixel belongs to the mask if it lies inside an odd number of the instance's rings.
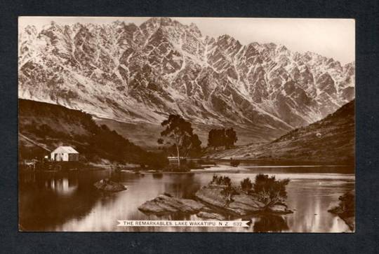
[[[246,216],[251,213],[291,213],[284,204],[274,204],[267,207],[258,200],[255,195],[248,195],[244,192],[228,196],[224,194],[222,185],[207,185],[196,192],[197,199],[212,206],[217,206],[227,212],[237,213],[239,216]]]

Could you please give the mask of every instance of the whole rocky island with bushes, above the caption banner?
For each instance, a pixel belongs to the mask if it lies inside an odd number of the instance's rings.
[[[275,176],[258,174],[255,183],[245,178],[239,186],[234,186],[229,177],[214,175],[208,185],[196,192],[196,200],[180,199],[165,193],[145,202],[138,209],[155,214],[190,213],[215,220],[257,213],[292,213],[284,203],[288,182],[289,179],[277,180]]]

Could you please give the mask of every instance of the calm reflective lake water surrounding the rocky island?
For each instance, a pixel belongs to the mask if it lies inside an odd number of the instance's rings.
[[[147,215],[138,206],[168,192],[194,198],[213,174],[229,176],[239,184],[256,174],[290,178],[286,204],[293,213],[283,216],[249,216],[250,227],[117,227],[117,220],[201,220],[196,215]],[[104,194],[93,183],[112,177],[128,190]],[[340,195],[354,189],[350,167],[256,167],[246,163],[222,172],[193,174],[112,174],[109,170],[69,172],[20,172],[19,223],[22,231],[166,231],[166,232],[350,232],[343,220],[328,213]],[[245,219],[244,219],[245,220]]]

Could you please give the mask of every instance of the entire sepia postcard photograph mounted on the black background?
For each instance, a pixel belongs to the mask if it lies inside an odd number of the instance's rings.
[[[20,232],[355,232],[355,20],[18,17]]]

